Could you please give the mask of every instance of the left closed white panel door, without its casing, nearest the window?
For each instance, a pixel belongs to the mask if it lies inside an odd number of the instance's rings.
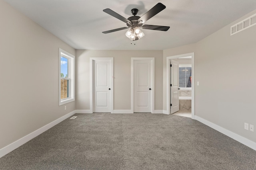
[[[94,112],[111,112],[111,61],[94,61]]]

